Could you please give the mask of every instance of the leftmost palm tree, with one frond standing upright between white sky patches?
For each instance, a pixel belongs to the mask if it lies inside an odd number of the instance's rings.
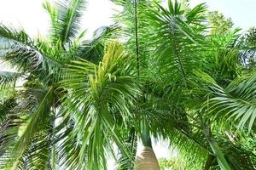
[[[57,169],[65,158],[72,159],[67,153],[77,153],[78,141],[70,137],[69,147],[65,139],[73,122],[61,121],[61,98],[67,93],[59,88],[62,67],[78,58],[98,63],[115,29],[102,27],[93,39],[84,40],[80,21],[85,4],[84,0],[45,1],[51,22],[46,39],[0,26],[1,60],[16,71],[0,74],[1,88],[15,88],[15,95],[7,95],[1,107],[1,169]],[[15,86],[19,80],[21,87]],[[66,142],[66,148],[60,148],[60,141]]]

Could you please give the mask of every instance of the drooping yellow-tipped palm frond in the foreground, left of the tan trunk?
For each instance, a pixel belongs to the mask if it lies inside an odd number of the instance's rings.
[[[119,116],[123,123],[128,122],[130,108],[140,94],[140,82],[130,59],[118,43],[112,43],[99,65],[79,59],[66,69],[67,80],[62,86],[70,90],[67,111],[77,108],[73,132],[82,142],[81,161],[84,150],[88,150],[89,169],[106,169],[104,150],[112,150],[111,141],[129,156],[115,120]]]

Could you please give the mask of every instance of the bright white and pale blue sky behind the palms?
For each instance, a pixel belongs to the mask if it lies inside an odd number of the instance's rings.
[[[207,3],[210,10],[218,10],[226,17],[230,17],[235,26],[246,31],[251,26],[256,26],[256,0],[190,0],[191,6],[198,3]],[[22,27],[31,36],[47,35],[49,29],[49,16],[42,8],[43,0],[0,0],[0,23]],[[113,23],[111,16],[116,8],[109,0],[89,0],[82,27],[88,29],[89,35],[100,26]],[[4,65],[0,65],[0,70]],[[162,147],[164,145],[165,147]],[[170,156],[166,150],[167,144],[154,143],[156,156]]]

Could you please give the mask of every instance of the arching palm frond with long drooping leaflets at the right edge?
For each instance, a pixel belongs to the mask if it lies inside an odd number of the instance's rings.
[[[199,75],[199,74],[198,74]],[[223,88],[206,73],[201,78],[207,83],[204,108],[213,117],[225,116],[237,122],[238,128],[250,131],[255,126],[255,76],[241,77]]]

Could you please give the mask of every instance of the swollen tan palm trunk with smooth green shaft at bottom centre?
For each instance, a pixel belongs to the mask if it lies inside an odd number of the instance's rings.
[[[142,123],[142,141],[143,148],[137,150],[137,157],[135,162],[135,170],[160,170],[159,163],[154,150],[152,149],[150,133],[146,122]]]

